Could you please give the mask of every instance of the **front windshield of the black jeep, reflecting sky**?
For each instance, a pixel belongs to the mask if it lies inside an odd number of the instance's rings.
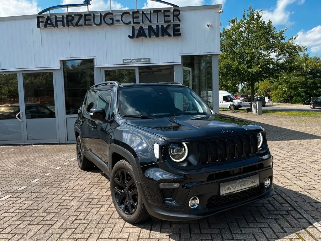
[[[131,86],[118,89],[119,113],[123,115],[165,117],[211,114],[195,92],[177,86]]]

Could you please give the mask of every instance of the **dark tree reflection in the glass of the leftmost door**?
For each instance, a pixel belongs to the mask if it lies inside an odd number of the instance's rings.
[[[19,103],[17,74],[0,74],[0,104]]]

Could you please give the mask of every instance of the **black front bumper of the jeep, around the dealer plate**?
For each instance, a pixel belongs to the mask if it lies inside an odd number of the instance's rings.
[[[259,174],[260,185],[259,187],[249,189],[256,189],[255,191],[243,191],[237,194],[230,194],[228,196],[220,196],[220,183],[243,179],[256,174]],[[268,188],[265,188],[264,182],[265,178],[267,177],[271,179],[271,184]],[[177,181],[173,180],[173,182]],[[183,195],[183,193],[187,193],[187,195]],[[242,193],[244,193],[244,195]],[[162,220],[179,221],[187,219],[201,219],[224,210],[235,208],[253,201],[265,199],[273,194],[273,169],[271,166],[269,166],[256,172],[236,175],[229,178],[221,178],[219,180],[210,182],[193,182],[190,186],[180,183],[180,187],[176,192],[175,200],[172,202],[165,201],[165,205],[155,205],[146,200],[145,195],[143,200],[146,209],[151,216]],[[233,195],[239,196],[236,198],[236,196]],[[241,198],[240,195],[242,196]],[[195,209],[192,209],[189,207],[188,201],[194,196],[198,197],[199,205]],[[184,200],[179,200],[180,198]],[[235,198],[234,201],[233,198]],[[181,205],[175,206],[176,202],[180,203]]]

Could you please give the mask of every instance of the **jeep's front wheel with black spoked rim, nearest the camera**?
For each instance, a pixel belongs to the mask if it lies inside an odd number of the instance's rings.
[[[127,223],[139,223],[149,218],[134,180],[133,168],[126,160],[117,162],[113,167],[110,192],[117,213]]]

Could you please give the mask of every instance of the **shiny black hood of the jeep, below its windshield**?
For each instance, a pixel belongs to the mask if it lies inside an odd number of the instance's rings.
[[[222,138],[263,130],[247,121],[220,114],[127,120],[126,124],[152,132],[168,142]]]

